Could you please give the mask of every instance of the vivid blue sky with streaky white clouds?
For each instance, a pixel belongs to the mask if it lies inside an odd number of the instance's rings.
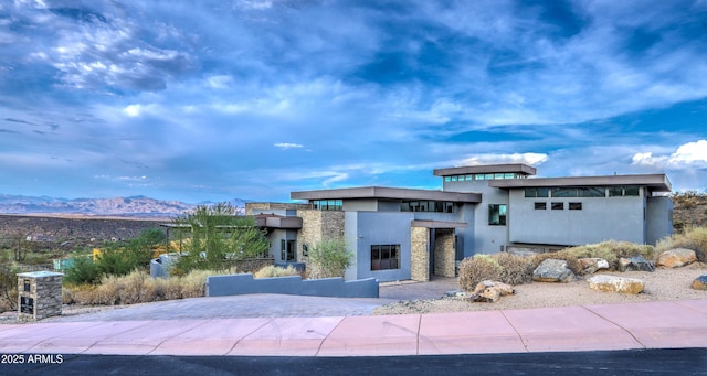
[[[707,187],[707,0],[0,1],[0,193],[287,201],[435,168]]]

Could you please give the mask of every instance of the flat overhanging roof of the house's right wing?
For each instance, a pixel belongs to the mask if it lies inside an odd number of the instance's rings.
[[[647,186],[652,191],[656,192],[671,192],[673,190],[673,185],[665,174],[532,178],[488,181],[488,186],[502,189],[600,185],[641,185]]]

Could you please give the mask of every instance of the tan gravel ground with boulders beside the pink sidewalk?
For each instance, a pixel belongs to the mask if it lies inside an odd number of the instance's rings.
[[[636,278],[645,282],[639,294],[624,294],[591,290],[585,278],[570,283],[532,282],[515,287],[515,294],[502,297],[495,303],[475,303],[467,297],[444,297],[431,300],[405,300],[386,304],[373,310],[372,314],[409,314],[460,311],[517,310],[529,308],[549,308],[567,305],[590,305],[629,303],[658,300],[707,299],[707,291],[694,290],[690,283],[695,278],[707,275],[707,264],[695,262],[682,268],[657,268],[648,271],[605,271],[595,275],[611,275]]]

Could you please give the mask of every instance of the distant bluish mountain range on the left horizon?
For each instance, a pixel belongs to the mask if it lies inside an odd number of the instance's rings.
[[[234,198],[229,203],[234,207],[245,207],[245,201],[240,198]],[[212,203],[200,203],[200,205],[209,204]],[[194,207],[197,204],[161,201],[146,196],[67,200],[0,194],[0,214],[173,217]]]

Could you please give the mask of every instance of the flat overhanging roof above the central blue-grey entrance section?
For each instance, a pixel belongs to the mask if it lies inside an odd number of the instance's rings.
[[[346,198],[392,198],[392,200],[433,200],[458,203],[479,203],[478,193],[447,192],[398,189],[386,186],[360,186],[350,189],[300,191],[289,193],[292,200],[346,200]]]

